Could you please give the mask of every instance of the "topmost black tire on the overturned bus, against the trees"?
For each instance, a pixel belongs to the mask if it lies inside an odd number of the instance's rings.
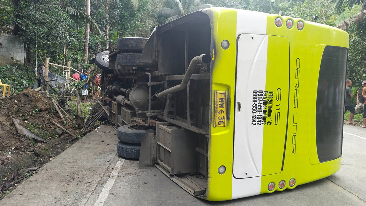
[[[117,39],[117,50],[122,53],[142,52],[148,38],[125,37]]]

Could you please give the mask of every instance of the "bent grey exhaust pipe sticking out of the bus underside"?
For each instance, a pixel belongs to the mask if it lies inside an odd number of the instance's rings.
[[[194,69],[196,68],[197,63],[208,64],[211,62],[211,56],[209,54],[201,54],[199,56],[195,56],[191,63],[188,66],[186,74],[184,74],[183,80],[179,85],[171,87],[169,89],[165,89],[163,92],[157,94],[158,98],[162,98],[163,96],[169,95],[174,92],[178,92],[187,87],[188,81],[190,80]]]

